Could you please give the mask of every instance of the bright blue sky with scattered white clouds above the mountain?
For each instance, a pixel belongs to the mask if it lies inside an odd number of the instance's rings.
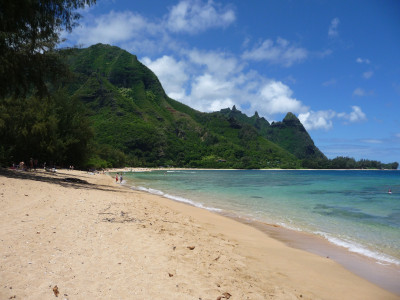
[[[292,112],[328,158],[400,162],[398,0],[97,0],[80,13],[61,47],[121,47],[202,112]]]

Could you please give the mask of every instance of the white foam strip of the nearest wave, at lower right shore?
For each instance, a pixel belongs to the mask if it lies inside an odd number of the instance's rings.
[[[384,255],[384,254],[377,253],[377,252],[371,251],[369,249],[366,249],[365,247],[363,247],[353,241],[346,241],[344,239],[339,239],[337,237],[331,236],[322,231],[316,231],[316,232],[314,232],[314,234],[322,236],[323,238],[327,239],[332,244],[346,248],[350,252],[358,253],[358,254],[364,255],[366,257],[373,258],[373,259],[377,260],[377,262],[380,264],[390,263],[390,264],[400,265],[399,260],[397,260],[393,257],[390,257],[388,255]]]

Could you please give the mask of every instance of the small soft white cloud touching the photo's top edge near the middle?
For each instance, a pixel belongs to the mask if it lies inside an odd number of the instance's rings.
[[[184,0],[172,7],[166,23],[172,32],[194,34],[209,28],[227,27],[235,19],[235,12],[231,8],[220,7],[212,0],[207,3]]]

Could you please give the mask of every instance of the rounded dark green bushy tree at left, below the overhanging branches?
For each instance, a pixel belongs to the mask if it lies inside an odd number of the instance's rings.
[[[57,91],[46,99],[7,98],[0,103],[2,165],[30,158],[82,166],[93,133],[84,106]]]

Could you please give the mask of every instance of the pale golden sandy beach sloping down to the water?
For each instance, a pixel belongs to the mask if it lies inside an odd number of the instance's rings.
[[[0,169],[0,299],[399,299],[329,258],[106,174]]]

